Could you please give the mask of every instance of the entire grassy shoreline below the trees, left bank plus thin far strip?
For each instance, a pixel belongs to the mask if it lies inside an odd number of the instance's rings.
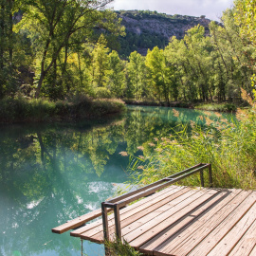
[[[93,100],[76,96],[65,101],[26,99],[16,97],[0,100],[0,123],[53,122],[79,119],[99,119],[125,111],[125,104],[140,106],[180,107],[218,112],[236,112],[239,105],[234,103],[202,103],[182,101],[134,101],[134,100]]]

